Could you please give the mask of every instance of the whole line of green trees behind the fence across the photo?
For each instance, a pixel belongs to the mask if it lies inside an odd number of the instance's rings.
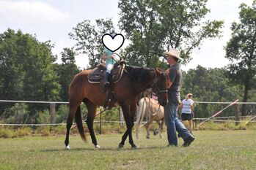
[[[206,20],[210,12],[206,0],[120,0],[119,30],[131,42],[120,54],[134,66],[167,69],[161,58],[164,50],[178,48],[189,63],[191,52],[200,48],[205,39],[222,36],[224,21]],[[256,82],[256,1],[252,6],[241,4],[240,21],[231,26],[232,36],[224,47],[230,64],[222,69],[197,66],[183,73],[181,96],[194,93],[197,101],[255,101]],[[89,68],[100,63],[103,45],[101,36],[117,32],[111,18],[84,20],[70,31],[74,47],[66,47],[56,63],[51,41],[39,42],[32,34],[8,28],[0,34],[0,99],[29,101],[67,101],[68,85],[81,70],[76,66],[78,53],[89,58]],[[209,107],[209,108],[208,108]],[[222,106],[197,107],[199,117],[208,117]],[[28,123],[37,121],[48,104],[26,104]],[[249,109],[248,109],[249,108]],[[13,104],[0,103],[0,117],[13,116]],[[242,115],[251,107],[244,104]],[[42,115],[42,114],[41,114]],[[43,119],[43,118],[42,118]]]

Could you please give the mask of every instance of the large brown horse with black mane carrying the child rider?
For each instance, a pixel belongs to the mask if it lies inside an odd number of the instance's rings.
[[[139,96],[142,91],[147,88],[152,88],[153,92],[158,95],[158,101],[161,105],[166,105],[168,102],[167,89],[169,88],[169,77],[166,72],[161,72],[158,69],[149,69],[144,67],[124,66],[125,72],[118,82],[111,83],[111,90],[114,91],[114,97],[117,104],[122,107],[123,116],[125,118],[126,128],[125,134],[119,147],[124,147],[125,140],[129,136],[129,143],[132,148],[136,148],[132,137],[132,128],[134,126],[134,115],[136,112],[136,104],[139,101]],[[73,123],[73,118],[76,118],[76,125],[81,139],[87,141],[84,134],[84,128],[81,120],[81,101],[87,106],[87,126],[89,134],[92,138],[92,143],[95,148],[99,148],[98,142],[93,131],[93,120],[95,118],[97,106],[105,104],[106,93],[101,90],[100,84],[90,83],[87,76],[92,70],[84,70],[76,74],[70,82],[69,87],[69,115],[67,117],[67,133],[65,139],[66,149],[69,149],[69,132]]]

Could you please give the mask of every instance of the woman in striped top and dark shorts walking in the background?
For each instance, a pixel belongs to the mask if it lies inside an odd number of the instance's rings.
[[[189,93],[186,95],[186,98],[179,105],[181,108],[181,120],[185,125],[186,120],[189,121],[189,131],[192,134],[193,130],[193,110],[194,110],[194,101],[193,94]]]

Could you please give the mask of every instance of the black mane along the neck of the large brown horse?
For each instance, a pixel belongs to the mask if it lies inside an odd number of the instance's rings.
[[[140,82],[149,81],[150,72],[154,70],[142,66],[125,66],[125,69],[129,73],[131,80],[138,80]]]

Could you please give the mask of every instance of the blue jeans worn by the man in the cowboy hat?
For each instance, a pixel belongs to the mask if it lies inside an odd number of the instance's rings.
[[[164,107],[164,119],[167,125],[167,138],[170,145],[178,146],[178,138],[176,131],[180,134],[180,137],[185,140],[187,137],[192,136],[188,129],[178,119],[178,105],[168,103]]]

